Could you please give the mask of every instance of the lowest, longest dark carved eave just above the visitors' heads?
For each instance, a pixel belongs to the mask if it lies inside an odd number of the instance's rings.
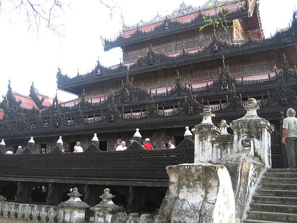
[[[94,129],[98,129],[98,133],[106,133],[112,132],[114,128],[119,131],[134,131],[136,127],[184,127],[185,123],[193,125],[200,121],[198,114],[204,105],[209,105],[217,113],[214,120],[243,115],[243,99],[247,100],[250,94],[259,102],[259,115],[268,120],[280,118],[279,112],[283,110],[286,101],[284,98],[290,106],[297,105],[296,69],[281,70],[272,76],[268,74],[265,79],[246,83],[230,76],[228,68],[224,68],[222,58],[220,74],[228,77],[232,87],[224,89],[219,76],[205,88],[193,89],[191,83],[189,87],[183,85],[177,73],[176,85],[165,95],[158,95],[145,88],[133,86],[127,73],[127,79],[121,88],[111,90],[110,96],[102,103],[88,102],[83,97],[74,107],[63,107],[56,102],[40,111],[14,111],[18,118],[1,121],[0,135],[9,139],[22,138],[28,134],[55,136],[57,131],[59,134],[69,135],[80,134],[82,131],[91,134]],[[272,107],[274,112],[271,113]]]

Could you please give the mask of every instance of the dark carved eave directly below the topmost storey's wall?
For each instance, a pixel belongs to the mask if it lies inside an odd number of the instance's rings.
[[[92,72],[69,78],[67,75],[57,74],[58,88],[70,93],[77,94],[79,86],[100,82],[114,78],[124,78],[127,67],[129,74],[140,74],[149,71],[170,68],[192,63],[219,59],[222,55],[226,57],[245,55],[249,53],[262,52],[263,49],[269,51],[277,48],[297,45],[297,18],[293,20],[292,25],[286,29],[278,31],[274,36],[268,39],[253,39],[249,37],[242,42],[226,42],[220,38],[213,38],[205,44],[204,48],[198,48],[196,51],[183,51],[174,56],[167,56],[164,53],[155,53],[149,50],[146,56],[139,57],[137,61],[127,65],[121,63],[116,68],[107,68],[99,64]]]

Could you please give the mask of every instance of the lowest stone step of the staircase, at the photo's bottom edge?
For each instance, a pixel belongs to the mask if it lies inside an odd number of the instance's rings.
[[[248,219],[297,223],[297,214],[247,211]]]

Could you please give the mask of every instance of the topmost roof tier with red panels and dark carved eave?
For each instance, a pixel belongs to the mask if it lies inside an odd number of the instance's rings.
[[[232,21],[235,19],[249,22],[246,31],[258,33],[257,38],[263,37],[260,18],[258,16],[255,0],[234,0],[219,7],[195,8],[181,4],[171,15],[166,17],[156,16],[149,22],[141,22],[135,26],[126,28],[115,40],[104,40],[104,50],[108,51],[114,47],[124,47],[131,44],[149,41],[157,37],[170,36],[174,33],[184,32],[192,29],[199,29],[207,25],[209,18],[215,18],[218,11],[225,13],[225,19]],[[253,13],[256,11],[255,13]],[[251,22],[252,21],[252,22]]]

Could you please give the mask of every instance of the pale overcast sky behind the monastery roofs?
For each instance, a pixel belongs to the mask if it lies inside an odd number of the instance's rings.
[[[2,3],[0,12],[2,95],[6,94],[10,79],[12,90],[15,92],[29,95],[33,81],[39,93],[53,98],[56,93],[58,67],[62,70],[62,74],[74,77],[78,69],[80,74],[91,71],[97,65],[98,57],[103,66],[120,62],[121,51],[114,49],[104,52],[100,41],[100,36],[111,38],[118,34],[119,13],[110,18],[109,10],[101,5],[99,0],[68,1],[71,2],[71,6],[65,10],[65,16],[60,16],[60,20],[57,20],[64,24],[63,37],[58,37],[43,27],[39,32],[34,26],[29,29],[24,17],[15,11],[5,10],[5,4]],[[113,2],[119,8],[117,12],[122,12],[125,24],[133,25],[141,19],[150,20],[157,12],[161,15],[171,14],[179,7],[182,0],[113,0]],[[184,2],[187,5],[199,6],[204,0],[184,0]],[[259,0],[259,2],[260,17],[266,37],[269,37],[270,33],[274,34],[277,28],[285,28],[291,24],[296,0]],[[73,98],[61,91],[58,91],[58,97],[62,101]]]

